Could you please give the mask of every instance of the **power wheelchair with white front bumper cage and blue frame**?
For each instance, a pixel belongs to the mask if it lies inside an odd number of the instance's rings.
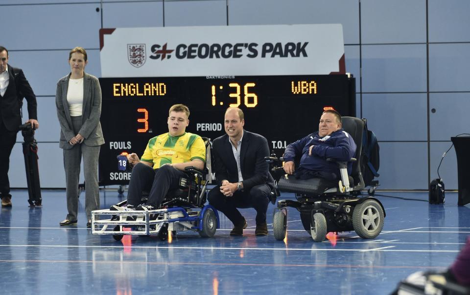
[[[206,159],[211,159],[211,140],[202,137],[206,145]],[[210,165],[210,164],[209,164]],[[150,211],[114,211],[110,209],[92,211],[92,233],[113,235],[120,241],[123,235],[158,235],[161,240],[168,238],[168,232],[194,230],[201,237],[212,237],[219,228],[219,215],[207,200],[210,166],[204,164],[201,171],[186,167],[187,177],[180,178],[179,187],[169,191],[160,207]],[[142,192],[142,201],[147,201],[148,192]],[[126,201],[117,204],[124,207]],[[108,219],[101,219],[108,216]],[[111,216],[111,218],[109,218]]]

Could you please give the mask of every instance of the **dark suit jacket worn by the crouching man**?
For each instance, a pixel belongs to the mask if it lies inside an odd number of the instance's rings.
[[[223,180],[238,182],[238,170],[229,136],[224,135],[212,142],[212,167],[218,185]],[[240,152],[240,169],[243,177],[243,189],[248,191],[253,186],[267,183],[274,186],[274,180],[269,173],[269,164],[264,160],[269,157],[268,141],[263,136],[243,130]]]

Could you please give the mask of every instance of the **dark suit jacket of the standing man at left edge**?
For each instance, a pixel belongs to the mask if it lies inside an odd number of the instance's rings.
[[[0,120],[3,121],[6,129],[18,131],[18,126],[22,124],[21,101],[23,98],[26,98],[28,102],[29,118],[38,119],[36,95],[34,95],[21,68],[13,68],[10,65],[7,67],[10,81],[5,94],[0,96]]]

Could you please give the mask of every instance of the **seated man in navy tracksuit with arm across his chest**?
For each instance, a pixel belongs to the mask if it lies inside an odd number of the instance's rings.
[[[323,112],[318,131],[287,146],[284,152],[284,171],[299,179],[340,179],[338,164],[327,162],[327,158],[349,161],[354,157],[356,144],[350,134],[342,129],[341,115],[333,110]],[[299,167],[294,167],[294,158],[301,156]],[[348,163],[351,174],[352,162]]]

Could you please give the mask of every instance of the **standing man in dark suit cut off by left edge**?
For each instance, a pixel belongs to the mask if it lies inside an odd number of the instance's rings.
[[[11,207],[10,154],[16,142],[16,134],[21,123],[23,98],[28,102],[29,122],[34,129],[39,128],[37,103],[23,70],[8,65],[8,50],[0,46],[0,198],[2,207]]]

